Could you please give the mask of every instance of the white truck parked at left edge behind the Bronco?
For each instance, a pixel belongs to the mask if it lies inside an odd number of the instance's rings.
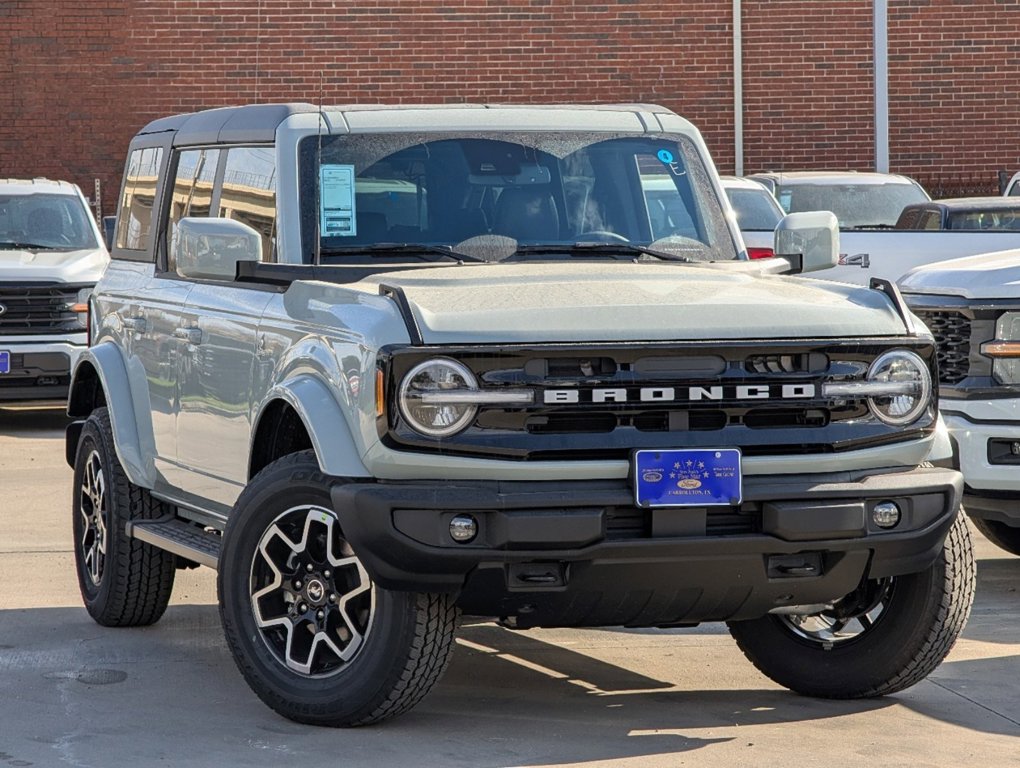
[[[0,402],[66,399],[108,262],[75,185],[0,180]]]

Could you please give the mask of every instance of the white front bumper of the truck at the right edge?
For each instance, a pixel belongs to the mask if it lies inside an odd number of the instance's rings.
[[[944,400],[942,417],[963,472],[963,505],[972,517],[1020,525],[1020,398]],[[1005,449],[1005,450],[1004,450]]]

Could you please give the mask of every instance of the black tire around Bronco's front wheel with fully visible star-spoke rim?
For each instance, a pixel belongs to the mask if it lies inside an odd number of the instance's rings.
[[[362,578],[374,592],[370,622],[353,657],[344,662],[335,660],[337,668],[319,676],[312,676],[311,669],[303,673],[289,666],[290,646],[284,653],[287,658],[280,658],[278,647],[273,650],[270,635],[270,631],[279,627],[269,630],[263,623],[260,628],[256,620],[260,609],[255,596],[273,586],[257,580],[257,568],[268,562],[260,554],[260,542],[277,541],[267,537],[272,526],[277,521],[293,519],[288,516],[302,514],[303,510],[334,516],[329,489],[337,481],[321,473],[311,451],[285,456],[259,472],[238,499],[227,521],[217,588],[231,653],[259,699],[297,722],[346,727],[375,723],[406,712],[432,688],[449,664],[458,612],[452,596],[392,592],[371,584],[358,561]],[[306,522],[307,530],[319,525],[318,517],[309,519],[312,522]],[[343,532],[335,517],[330,525],[336,525],[337,535],[342,540]],[[322,537],[329,535],[327,532]],[[342,541],[349,547],[346,540]],[[288,562],[293,562],[297,554],[295,549]],[[356,553],[348,554],[357,559]],[[291,574],[282,578],[287,581],[287,588],[291,588],[295,581],[290,579],[296,577]],[[310,584],[306,586],[310,588]],[[283,594],[278,587],[276,592]],[[288,593],[288,597],[294,596]],[[297,601],[280,601],[285,606],[296,604]],[[303,624],[301,628],[310,626]],[[319,636],[319,629],[310,631]],[[290,632],[299,634],[295,624],[291,624]],[[321,633],[328,634],[324,629]],[[304,636],[307,639],[307,634]],[[314,642],[308,656],[309,667],[316,654]]]

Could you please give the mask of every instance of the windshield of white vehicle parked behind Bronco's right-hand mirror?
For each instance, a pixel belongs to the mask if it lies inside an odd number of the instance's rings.
[[[786,213],[832,211],[840,229],[891,227],[905,205],[927,202],[924,190],[913,184],[779,184],[779,205]]]

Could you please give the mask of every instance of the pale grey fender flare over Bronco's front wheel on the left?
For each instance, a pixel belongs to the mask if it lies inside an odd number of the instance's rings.
[[[276,400],[287,402],[297,412],[323,473],[335,477],[371,477],[361,461],[343,408],[320,378],[307,373],[282,381],[266,394],[252,429],[252,440],[258,434],[267,407]],[[254,445],[249,446],[249,456],[253,449]]]

